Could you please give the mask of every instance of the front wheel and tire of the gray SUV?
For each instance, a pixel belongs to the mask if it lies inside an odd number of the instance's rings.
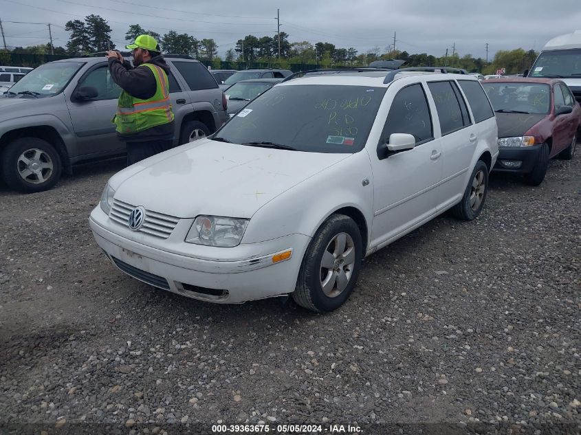
[[[52,188],[63,165],[61,156],[49,142],[38,137],[20,137],[2,153],[2,173],[8,187],[25,193]]]

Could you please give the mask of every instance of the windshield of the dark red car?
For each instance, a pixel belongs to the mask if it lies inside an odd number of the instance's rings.
[[[549,113],[551,88],[542,83],[482,82],[494,111]]]

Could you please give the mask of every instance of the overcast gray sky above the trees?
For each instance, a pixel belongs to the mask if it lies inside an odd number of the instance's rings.
[[[289,41],[330,42],[364,53],[388,45],[408,53],[443,56],[452,47],[463,56],[489,58],[499,49],[542,48],[558,34],[581,29],[579,0],[0,0],[8,46],[65,46],[65,23],[89,14],[105,18],[120,48],[130,24],[160,34],[175,30],[214,38],[223,56],[248,34],[274,36],[276,9]],[[162,7],[160,8],[160,5]],[[11,21],[40,23],[14,23]]]

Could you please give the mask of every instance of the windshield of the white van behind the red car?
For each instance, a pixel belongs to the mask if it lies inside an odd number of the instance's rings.
[[[581,78],[581,48],[542,52],[529,77]]]

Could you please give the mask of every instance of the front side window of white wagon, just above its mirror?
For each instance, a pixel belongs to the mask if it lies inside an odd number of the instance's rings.
[[[413,135],[416,143],[432,139],[430,109],[421,85],[405,87],[393,98],[380,144],[386,143],[392,133]]]

